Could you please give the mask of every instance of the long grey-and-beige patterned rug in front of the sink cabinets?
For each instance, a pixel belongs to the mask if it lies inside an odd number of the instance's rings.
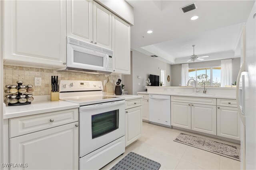
[[[180,135],[178,135],[178,137],[174,141],[199,149],[207,150],[209,152],[226,156],[228,158],[240,160],[238,148],[232,145],[227,145],[224,143],[212,141],[210,139],[187,135],[184,133],[180,133]]]

